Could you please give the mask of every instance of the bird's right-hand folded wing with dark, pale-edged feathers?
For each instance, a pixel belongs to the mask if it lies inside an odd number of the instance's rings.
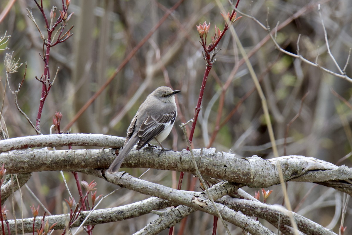
[[[175,122],[176,110],[170,113],[148,116],[140,125],[138,136],[140,140],[137,149],[143,148],[149,141],[159,135],[167,126]]]

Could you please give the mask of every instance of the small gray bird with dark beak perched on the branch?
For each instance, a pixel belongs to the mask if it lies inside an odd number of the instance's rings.
[[[179,92],[181,91],[172,91],[170,87],[163,86],[156,88],[147,96],[134,115],[127,129],[124,147],[107,170],[108,173],[119,171],[125,157],[136,144],[137,150],[149,142],[162,147],[161,142],[170,134],[177,117],[174,95]]]

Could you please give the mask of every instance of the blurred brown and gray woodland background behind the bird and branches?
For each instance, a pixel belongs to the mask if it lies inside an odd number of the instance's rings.
[[[0,12],[8,2],[0,2]],[[52,117],[56,111],[63,114],[62,127],[69,123],[86,101],[113,74],[127,54],[176,2],[176,0],[72,0],[69,13],[74,14],[68,21],[67,29],[75,25],[71,31],[74,35],[51,49],[49,62],[51,75],[55,74],[57,67],[60,69],[44,104],[40,123],[42,133],[49,134]],[[226,11],[232,10],[228,1],[220,2]],[[44,0],[43,3],[48,16],[52,6],[62,5],[59,0]],[[321,3],[322,18],[332,55],[343,68],[352,47],[352,1],[242,0],[239,3],[239,10],[255,17],[264,25],[268,24],[272,30],[278,22],[281,24],[292,18],[296,12],[304,10],[298,18],[291,19],[277,32],[277,42],[285,50],[296,54],[297,39],[301,35],[300,54],[312,62],[315,62],[319,55],[317,61],[320,66],[338,72],[327,53],[318,3]],[[28,63],[26,80],[18,101],[21,109],[32,122],[35,122],[42,88],[42,84],[35,76],[39,78],[44,69],[44,63],[38,55],[43,54],[43,42],[35,25],[27,17],[26,8],[32,9],[40,29],[45,31],[42,14],[34,1],[15,1],[10,12],[0,22],[0,35],[3,36],[5,31],[11,35],[7,43],[10,50],[0,51],[0,57],[5,58],[5,53],[14,51],[14,57],[20,57],[21,63]],[[179,117],[172,134],[163,145],[174,150],[186,148],[178,124],[193,118],[206,67],[195,26],[210,21],[211,35],[214,33],[214,24],[223,29],[224,19],[220,12],[215,1],[183,1],[83,113],[71,128],[71,132],[124,137],[132,117],[145,97],[156,87],[171,85],[172,88],[182,91],[177,95]],[[243,17],[236,21],[234,28],[246,52],[249,53],[250,62],[261,81],[279,155],[284,155],[287,124],[299,112],[302,97],[307,92],[309,93],[302,103],[300,116],[289,126],[286,154],[312,156],[334,164],[342,157],[352,155],[351,108],[332,92],[334,90],[350,102],[352,84],[279,52],[271,39],[265,40],[268,32],[250,18]],[[225,34],[220,48],[208,77],[193,147],[215,147],[218,151],[232,151],[239,157],[258,155],[271,158],[273,153],[261,101],[230,32]],[[346,67],[346,74],[350,78],[351,64],[350,61]],[[9,82],[12,90],[17,89],[23,73],[24,66],[19,68],[18,73],[10,74]],[[5,74],[4,64],[0,63],[1,101],[4,96]],[[226,82],[229,82],[229,85],[225,89]],[[253,92],[249,94],[248,92],[252,90]],[[223,106],[219,106],[221,93],[225,94]],[[247,93],[248,96],[244,98]],[[240,101],[243,103],[239,103]],[[233,115],[228,116],[236,105],[238,109]],[[16,109],[14,95],[9,89],[6,89],[2,115],[10,138],[36,135]],[[217,118],[220,118],[218,120],[221,128],[216,124]],[[214,131],[218,133],[213,135]],[[341,164],[351,166],[351,159],[338,162],[338,165]],[[143,169],[124,170],[137,177],[143,173]],[[81,177],[88,182],[93,179],[83,174]],[[163,171],[150,171],[145,177],[168,186],[175,184],[178,179],[170,172]],[[188,175],[184,188],[188,188],[191,184],[191,177]],[[75,182],[69,173],[67,180],[74,191]],[[107,194],[115,188],[101,179],[96,181],[98,194]],[[63,198],[68,198],[68,195],[58,172],[34,173],[27,185],[52,214],[64,212]],[[200,190],[197,185],[198,182],[194,190]],[[281,188],[273,187],[273,189],[268,203],[281,204],[283,201]],[[252,195],[253,190],[247,189]],[[289,183],[288,191],[293,208],[297,207],[296,212],[324,226],[331,226],[335,232],[338,231],[339,219],[334,221],[334,214],[335,211],[341,210],[340,192],[302,183]],[[31,217],[29,206],[38,203],[26,189],[22,190],[22,194],[24,217]],[[304,197],[305,195],[308,196]],[[14,197],[17,203],[16,210],[20,210],[19,192],[16,192]],[[107,199],[102,208],[143,198],[146,196],[123,189]],[[10,202],[7,202],[7,208],[12,208]],[[350,203],[345,221],[351,221],[351,213]],[[20,216],[20,213],[17,212],[17,216]],[[128,223],[96,225],[93,231],[96,234],[130,234],[138,231],[153,217],[156,215],[131,219]],[[211,224],[212,216],[196,212],[188,217],[187,230],[184,234],[209,234]],[[222,225],[219,224],[218,228],[219,234],[222,234],[224,231]],[[241,234],[240,230],[230,228],[235,231],[233,234]],[[178,227],[175,229],[177,232]],[[167,232],[164,231],[163,234]],[[346,232],[351,233],[350,226]]]

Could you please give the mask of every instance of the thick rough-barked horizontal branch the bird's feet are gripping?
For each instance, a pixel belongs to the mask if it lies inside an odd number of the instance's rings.
[[[234,154],[212,149],[194,149],[193,154],[203,177],[228,180],[249,187],[280,184],[277,163],[284,181],[315,182],[352,195],[352,168],[305,156],[283,156],[264,160],[258,156],[238,159]],[[35,171],[86,171],[105,169],[115,159],[114,149],[56,150],[33,149],[0,154],[7,173]],[[189,151],[162,151],[156,148],[133,149],[122,167],[143,167],[195,173]]]

